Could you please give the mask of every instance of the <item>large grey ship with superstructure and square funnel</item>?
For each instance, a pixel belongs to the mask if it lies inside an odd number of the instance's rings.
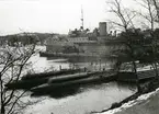
[[[46,53],[49,54],[81,54],[101,58],[112,55],[112,50],[116,48],[124,47],[121,41],[107,34],[106,22],[101,22],[92,33],[76,29],[64,38],[54,36],[46,39]]]

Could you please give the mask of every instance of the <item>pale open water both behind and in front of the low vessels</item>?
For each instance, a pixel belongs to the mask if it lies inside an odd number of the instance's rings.
[[[70,68],[71,65],[75,65],[68,62],[66,59],[48,60],[38,55],[34,56],[32,61],[34,62],[33,68],[38,72],[46,69],[59,70],[59,66],[61,66],[61,68]],[[76,62],[78,67],[86,65],[88,65],[88,62]],[[27,107],[24,114],[89,114],[91,112],[109,109],[112,103],[120,102],[135,92],[135,86],[110,82],[79,87],[75,93],[58,99],[54,96],[26,96],[27,100],[43,100]]]

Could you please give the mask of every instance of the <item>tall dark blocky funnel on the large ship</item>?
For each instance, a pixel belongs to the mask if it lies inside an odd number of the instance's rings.
[[[100,22],[100,24],[99,24],[99,31],[100,31],[100,36],[106,36],[107,35],[107,25],[106,25],[106,22]]]

